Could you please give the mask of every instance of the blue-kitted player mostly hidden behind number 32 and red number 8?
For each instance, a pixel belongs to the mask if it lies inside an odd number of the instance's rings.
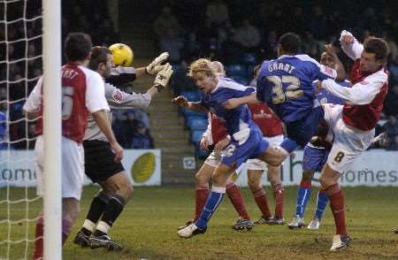
[[[334,47],[327,44],[325,45],[325,51],[322,53],[319,62],[321,65],[334,68],[337,65],[335,60],[338,58],[339,57],[337,57]],[[344,87],[350,86],[348,80],[339,81],[338,84]],[[319,103],[344,103],[341,98],[333,96],[325,89],[319,91],[316,96]],[[322,171],[322,168],[326,163],[327,156],[329,155],[329,151],[332,148],[330,141],[332,141],[333,136],[329,136],[327,138],[328,141],[325,141],[327,137],[326,135],[327,126],[321,123],[321,125],[318,126],[317,134],[311,138],[311,141],[304,148],[304,154],[302,157],[302,180],[297,189],[295,218],[288,225],[291,229],[305,226],[303,216],[310,199],[312,177],[315,172]],[[309,229],[319,229],[320,221],[327,203],[329,203],[329,199],[327,198],[327,195],[325,195],[325,189],[321,188],[318,191],[317,210],[315,211],[314,218],[308,226]]]

